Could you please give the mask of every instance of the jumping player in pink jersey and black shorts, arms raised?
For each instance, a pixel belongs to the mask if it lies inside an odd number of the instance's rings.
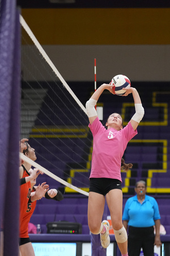
[[[101,223],[106,197],[117,245],[121,254],[128,256],[128,237],[122,224],[121,158],[128,142],[137,134],[144,109],[137,90],[132,87],[124,88],[126,90],[124,96],[130,93],[133,95],[135,114],[124,128],[120,114],[109,115],[105,124],[106,129],[97,117],[95,105],[105,89],[113,93],[112,87],[113,85],[109,84],[101,85],[86,102],[89,127],[94,138],[88,197],[88,226],[91,233],[100,234],[101,245],[107,248],[110,243],[109,222],[104,220]]]

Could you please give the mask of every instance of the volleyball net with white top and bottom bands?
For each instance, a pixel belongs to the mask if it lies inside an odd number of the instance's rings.
[[[86,109],[46,55],[27,23],[22,25],[20,139],[29,139],[48,184],[88,196],[92,137]],[[40,175],[39,175],[40,176]],[[50,177],[50,178],[49,178]],[[45,181],[45,176],[42,177]],[[40,178],[37,178],[39,182]],[[53,182],[52,182],[53,180]]]

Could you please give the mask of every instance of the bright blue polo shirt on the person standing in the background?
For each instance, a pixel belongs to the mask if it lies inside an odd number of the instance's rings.
[[[137,195],[130,197],[125,204],[122,220],[129,221],[129,226],[146,228],[155,225],[160,219],[158,203],[151,196],[145,196],[143,203],[139,203]]]

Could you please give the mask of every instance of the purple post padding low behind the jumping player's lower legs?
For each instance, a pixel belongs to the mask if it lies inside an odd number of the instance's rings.
[[[100,234],[91,234],[91,251],[92,256],[106,256],[107,249],[101,246]]]

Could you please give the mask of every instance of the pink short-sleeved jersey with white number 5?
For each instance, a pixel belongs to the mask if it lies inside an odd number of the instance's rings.
[[[120,131],[114,128],[107,130],[98,117],[88,126],[94,137],[90,178],[105,177],[122,182],[121,158],[130,139],[138,133],[137,130],[134,131],[130,122]]]

